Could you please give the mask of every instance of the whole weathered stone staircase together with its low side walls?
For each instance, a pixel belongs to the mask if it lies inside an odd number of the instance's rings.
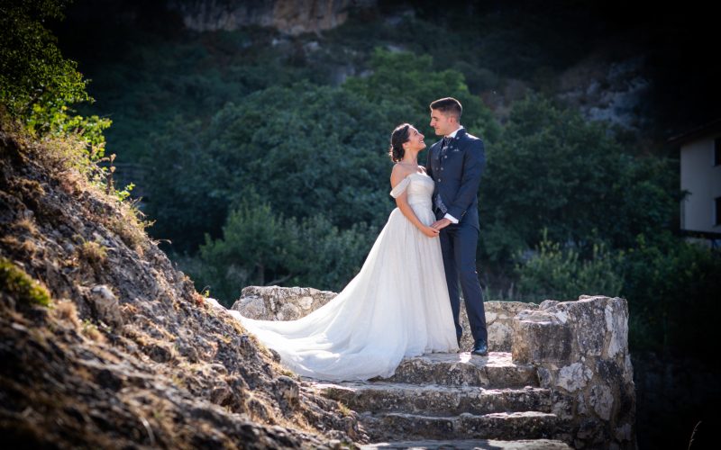
[[[248,286],[233,310],[293,320],[335,293]],[[424,355],[388,379],[306,380],[358,413],[364,448],[635,450],[634,369],[624,299],[486,302],[488,356]],[[461,326],[468,320],[461,308]],[[469,348],[470,333],[461,347]]]

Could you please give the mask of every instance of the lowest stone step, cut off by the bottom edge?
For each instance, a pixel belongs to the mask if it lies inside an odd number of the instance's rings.
[[[451,449],[455,448],[458,450],[470,450],[470,449],[481,449],[481,450],[570,450],[563,441],[557,441],[552,439],[524,439],[518,441],[499,441],[495,439],[490,440],[473,440],[463,439],[456,441],[437,441],[437,440],[425,440],[425,441],[403,441],[403,442],[380,442],[378,444],[368,444],[366,446],[360,446],[360,450],[401,450],[401,449]]]

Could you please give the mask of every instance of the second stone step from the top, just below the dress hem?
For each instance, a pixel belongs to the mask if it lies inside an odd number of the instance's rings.
[[[443,386],[406,383],[315,383],[322,395],[341,401],[358,412],[408,412],[430,416],[454,416],[463,412],[550,412],[551,391],[526,386],[522,389],[483,389],[478,386]]]

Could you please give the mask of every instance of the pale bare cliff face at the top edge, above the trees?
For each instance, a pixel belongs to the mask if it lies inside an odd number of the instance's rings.
[[[195,31],[232,31],[242,26],[273,27],[288,34],[332,29],[348,18],[351,7],[375,0],[169,0]]]

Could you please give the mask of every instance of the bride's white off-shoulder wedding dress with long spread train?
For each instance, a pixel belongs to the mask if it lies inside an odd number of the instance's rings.
[[[434,222],[434,181],[415,173],[391,191],[407,192],[415,215]],[[441,244],[399,209],[390,213],[365,263],[331,302],[299,320],[251,320],[230,311],[283,365],[320,380],[394,374],[404,356],[457,352]]]

